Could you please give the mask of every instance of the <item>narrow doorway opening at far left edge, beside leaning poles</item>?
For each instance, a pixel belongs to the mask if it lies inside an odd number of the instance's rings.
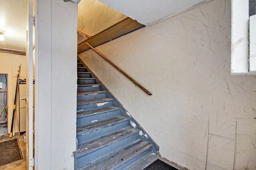
[[[7,134],[7,88],[8,88],[8,75],[0,74],[0,136]]]

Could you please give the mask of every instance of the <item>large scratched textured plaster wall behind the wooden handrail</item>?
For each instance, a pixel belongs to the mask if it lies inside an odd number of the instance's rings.
[[[235,169],[256,169],[256,76],[230,75],[229,0],[213,0],[96,49],[153,94],[94,51],[79,55],[163,157],[203,170],[208,143],[207,169],[233,169],[235,149]]]

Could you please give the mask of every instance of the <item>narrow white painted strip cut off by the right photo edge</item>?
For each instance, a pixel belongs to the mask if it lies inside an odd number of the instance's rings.
[[[250,74],[256,74],[256,15],[250,16]]]

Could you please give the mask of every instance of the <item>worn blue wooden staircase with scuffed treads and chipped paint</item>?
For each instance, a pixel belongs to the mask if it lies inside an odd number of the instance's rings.
[[[79,59],[77,66],[75,169],[139,170],[153,162],[158,146]]]

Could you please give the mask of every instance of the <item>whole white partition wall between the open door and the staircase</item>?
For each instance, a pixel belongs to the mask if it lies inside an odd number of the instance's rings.
[[[35,160],[38,170],[74,169],[77,4],[36,4]]]

